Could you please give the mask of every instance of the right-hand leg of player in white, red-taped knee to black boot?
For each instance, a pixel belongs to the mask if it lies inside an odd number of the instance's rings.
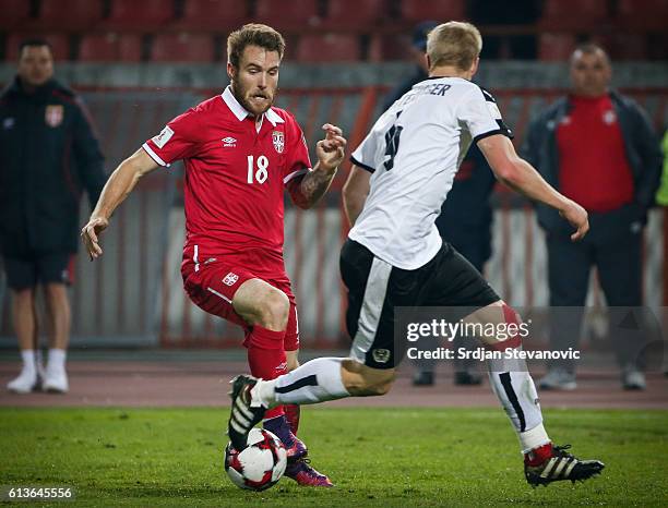
[[[517,313],[502,300],[482,307],[465,318],[466,323],[521,324]],[[509,334],[510,335],[510,334]],[[487,347],[497,351],[522,349],[520,334],[504,340],[497,337],[478,337]],[[580,460],[564,451],[570,445],[554,446],[542,425],[542,413],[534,379],[524,360],[488,361],[492,389],[511,420],[524,453],[524,473],[532,486],[548,485],[561,480],[584,481],[604,469],[598,460]]]

